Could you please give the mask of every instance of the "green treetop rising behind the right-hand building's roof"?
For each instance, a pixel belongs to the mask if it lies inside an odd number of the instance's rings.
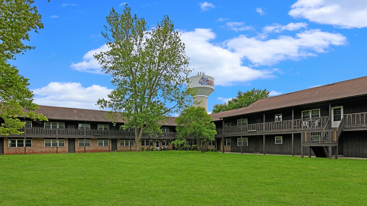
[[[259,99],[269,97],[270,92],[266,89],[251,89],[251,91],[237,93],[236,98],[233,98],[224,104],[214,104],[212,113],[218,113],[221,111],[234,110],[238,108],[247,107],[250,104],[256,102]]]

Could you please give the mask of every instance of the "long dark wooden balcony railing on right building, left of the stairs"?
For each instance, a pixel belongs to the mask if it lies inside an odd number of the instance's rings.
[[[263,132],[276,130],[292,130],[292,129],[312,129],[324,128],[329,117],[317,117],[310,119],[295,119],[278,122],[265,122],[258,124],[249,124],[242,126],[228,126],[223,129],[224,134],[244,133],[244,132]]]

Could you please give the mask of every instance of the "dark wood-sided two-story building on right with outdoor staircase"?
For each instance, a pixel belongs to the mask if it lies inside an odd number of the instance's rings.
[[[211,115],[221,151],[367,158],[367,77]]]

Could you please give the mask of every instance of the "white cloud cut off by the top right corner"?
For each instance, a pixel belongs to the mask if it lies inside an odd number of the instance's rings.
[[[298,0],[288,12],[294,18],[341,28],[367,27],[366,0]]]

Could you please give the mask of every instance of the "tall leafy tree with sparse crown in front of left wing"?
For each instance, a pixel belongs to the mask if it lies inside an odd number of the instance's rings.
[[[102,35],[110,50],[95,58],[116,89],[97,104],[111,109],[107,118],[126,120],[124,127],[134,128],[139,146],[143,132],[156,135],[165,115],[179,113],[192,102],[195,91],[185,88],[191,71],[185,45],[168,16],[150,30],[127,5],[122,14],[112,8],[106,19]]]

